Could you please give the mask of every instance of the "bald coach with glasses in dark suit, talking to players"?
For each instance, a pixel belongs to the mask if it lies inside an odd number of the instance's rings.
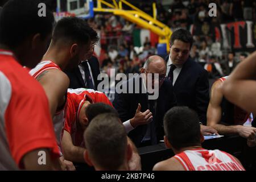
[[[138,104],[141,104],[142,111],[147,109],[151,111],[153,115],[152,121],[147,125],[136,127],[128,134],[137,147],[156,144],[159,140],[163,140],[164,114],[168,109],[176,105],[171,82],[166,80],[166,63],[162,57],[149,57],[141,73],[141,75],[131,78],[123,84],[123,86],[129,90],[129,85],[133,83],[133,93],[116,93],[113,101],[113,105],[115,109],[117,109],[122,122],[133,118],[138,110]],[[149,79],[147,76],[148,73],[159,73],[158,98],[150,99],[152,94],[147,91],[149,87],[146,84]],[[140,79],[140,77],[143,78]],[[135,82],[137,84],[135,84]],[[156,83],[155,80],[154,83]],[[135,89],[139,89],[139,93],[135,93]],[[154,87],[154,89],[156,88]],[[155,90],[154,94],[156,92]]]

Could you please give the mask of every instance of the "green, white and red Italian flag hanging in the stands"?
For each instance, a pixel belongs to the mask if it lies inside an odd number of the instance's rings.
[[[155,34],[154,32],[147,30],[147,29],[134,29],[133,31],[133,44],[134,47],[141,47],[143,46],[146,37],[148,37],[148,40],[151,42],[152,47],[156,47],[156,44],[158,44],[158,38],[159,36]]]

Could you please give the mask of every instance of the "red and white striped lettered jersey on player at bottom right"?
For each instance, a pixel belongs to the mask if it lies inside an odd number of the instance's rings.
[[[174,156],[185,171],[245,171],[234,157],[220,150],[196,148]]]

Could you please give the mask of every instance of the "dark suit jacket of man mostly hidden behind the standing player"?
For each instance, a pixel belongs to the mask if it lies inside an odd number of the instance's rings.
[[[98,75],[100,74],[100,63],[98,63],[98,59],[95,56],[92,56],[88,63],[90,65],[90,68],[92,69],[92,76],[94,80],[94,90],[97,90],[97,86],[100,81],[97,80]],[[66,71],[65,72],[70,80],[69,88],[77,89],[77,88],[85,88],[84,80],[82,80],[82,75],[80,72],[79,67],[76,67],[73,69],[73,71]]]

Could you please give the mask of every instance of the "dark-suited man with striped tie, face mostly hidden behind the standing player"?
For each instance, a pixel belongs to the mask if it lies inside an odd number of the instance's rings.
[[[93,56],[94,47],[98,42],[98,34],[93,28],[86,26],[86,33],[90,36],[90,50],[86,53],[85,60],[72,71],[65,72],[70,80],[69,88],[88,88],[97,90],[99,81],[97,80],[100,74],[100,64],[97,57]]]

